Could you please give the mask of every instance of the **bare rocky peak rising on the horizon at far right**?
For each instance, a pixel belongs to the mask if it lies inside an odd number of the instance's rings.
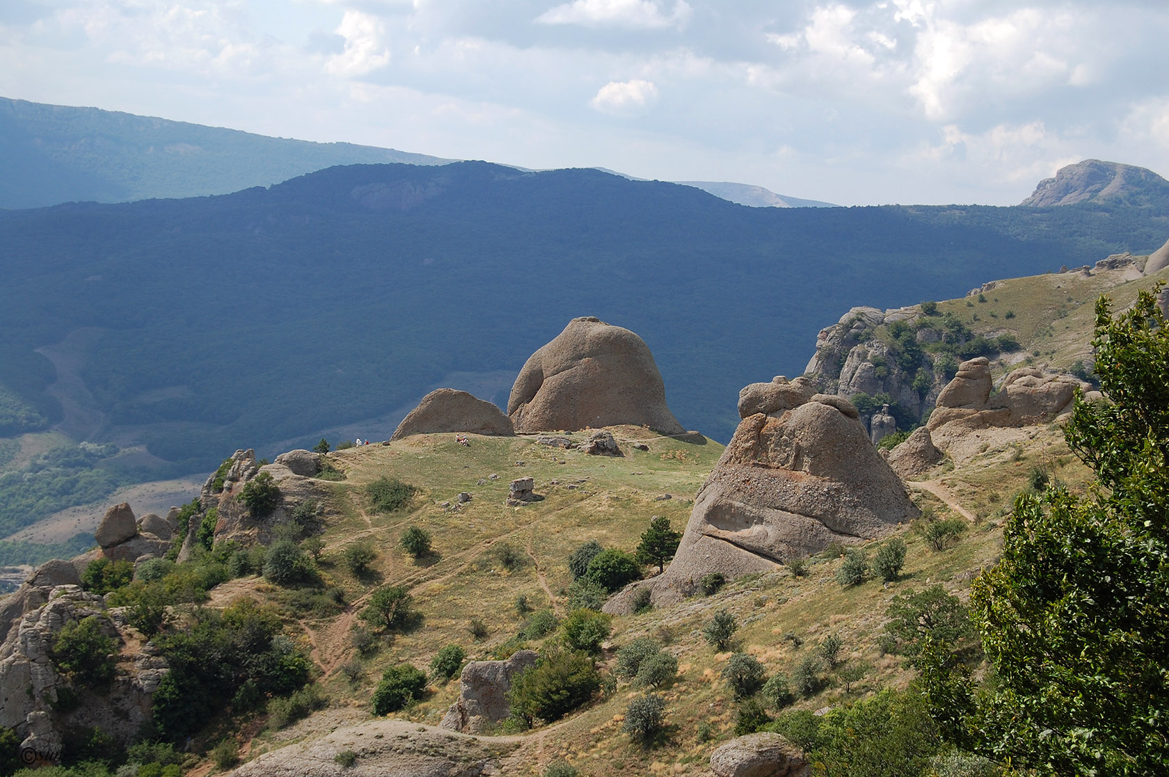
[[[1169,181],[1135,165],[1085,159],[1059,168],[1054,178],[1039,181],[1021,206],[1052,206],[1094,202],[1169,209]]]

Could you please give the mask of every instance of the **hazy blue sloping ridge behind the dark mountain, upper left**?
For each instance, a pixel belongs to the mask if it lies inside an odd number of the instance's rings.
[[[0,97],[0,208],[227,194],[334,165],[447,161]]]

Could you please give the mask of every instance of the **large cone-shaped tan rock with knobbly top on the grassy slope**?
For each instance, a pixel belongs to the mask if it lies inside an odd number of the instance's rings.
[[[797,408],[742,419],[698,492],[673,562],[639,585],[651,589],[652,602],[669,604],[692,594],[707,573],[733,580],[772,570],[833,541],[881,536],[916,515],[856,408],[817,394]],[[629,610],[635,588],[606,611]]]

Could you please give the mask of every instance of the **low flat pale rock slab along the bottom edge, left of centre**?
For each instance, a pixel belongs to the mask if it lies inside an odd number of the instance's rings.
[[[517,744],[373,720],[265,752],[228,777],[482,777],[498,775],[500,759]],[[343,752],[355,754],[353,765],[337,763]]]

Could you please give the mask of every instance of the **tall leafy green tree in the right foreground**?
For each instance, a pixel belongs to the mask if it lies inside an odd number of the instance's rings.
[[[1108,403],[1078,401],[1065,437],[1087,497],[1022,494],[973,609],[998,685],[967,717],[994,759],[1060,775],[1169,770],[1169,327],[1154,294],[1097,303]],[[945,675],[941,680],[946,680]]]

